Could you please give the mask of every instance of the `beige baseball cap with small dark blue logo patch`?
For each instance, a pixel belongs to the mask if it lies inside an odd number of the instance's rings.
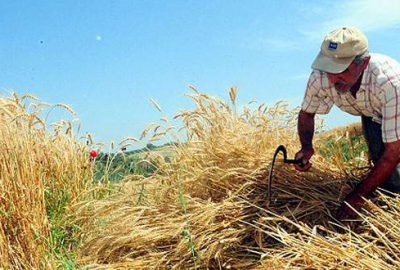
[[[341,73],[357,55],[367,50],[367,37],[360,30],[354,27],[342,27],[325,36],[321,51],[311,67],[328,73]]]

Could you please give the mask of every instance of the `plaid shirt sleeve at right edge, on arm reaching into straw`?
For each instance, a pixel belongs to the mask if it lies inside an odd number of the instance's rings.
[[[388,80],[383,86],[382,140],[384,143],[400,140],[400,82]]]

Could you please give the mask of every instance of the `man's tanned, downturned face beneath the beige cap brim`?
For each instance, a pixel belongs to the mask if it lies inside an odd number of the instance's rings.
[[[352,62],[350,66],[342,73],[327,73],[328,80],[338,92],[345,93],[349,91],[351,87],[357,82],[364,69],[364,63],[356,64]]]

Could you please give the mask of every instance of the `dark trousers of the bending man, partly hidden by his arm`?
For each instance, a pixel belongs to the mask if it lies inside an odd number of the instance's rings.
[[[367,116],[361,116],[361,123],[368,145],[369,157],[376,164],[385,150],[382,140],[382,125]],[[400,163],[380,187],[393,193],[400,193]]]

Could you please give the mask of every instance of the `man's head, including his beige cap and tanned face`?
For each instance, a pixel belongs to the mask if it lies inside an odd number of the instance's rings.
[[[338,91],[348,91],[369,59],[367,37],[357,28],[342,27],[325,36],[312,68],[326,72]]]

